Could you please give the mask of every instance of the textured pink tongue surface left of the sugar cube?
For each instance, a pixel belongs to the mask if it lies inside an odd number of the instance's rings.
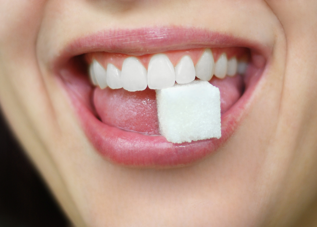
[[[156,93],[95,88],[94,105],[103,123],[149,135],[159,135]]]

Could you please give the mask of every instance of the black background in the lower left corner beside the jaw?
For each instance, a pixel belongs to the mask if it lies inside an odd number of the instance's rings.
[[[0,111],[0,227],[66,227],[67,218]]]

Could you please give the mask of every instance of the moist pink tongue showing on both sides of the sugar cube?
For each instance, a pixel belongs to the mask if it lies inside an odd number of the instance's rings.
[[[225,77],[211,79],[219,88],[221,114],[226,112],[243,93],[243,79]],[[159,135],[155,90],[126,91],[124,89],[94,90],[94,106],[103,123],[128,131]]]

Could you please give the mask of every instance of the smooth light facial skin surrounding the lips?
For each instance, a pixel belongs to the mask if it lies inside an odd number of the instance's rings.
[[[0,4],[2,110],[75,226],[316,226],[316,1]],[[112,164],[87,140],[49,61],[89,31],[169,24],[267,45],[264,77],[218,152],[177,169]]]

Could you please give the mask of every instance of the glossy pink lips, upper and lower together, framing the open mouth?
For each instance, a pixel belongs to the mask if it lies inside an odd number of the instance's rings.
[[[118,52],[142,55],[168,50],[200,47],[249,47],[261,53],[266,59],[270,54],[268,47],[256,42],[237,39],[228,35],[195,28],[142,28],[135,30],[110,30],[97,32],[80,38],[61,52],[52,63],[57,79],[68,91],[72,104],[79,116],[86,136],[94,148],[109,161],[133,167],[176,167],[187,165],[216,151],[233,134],[242,121],[251,102],[263,69],[249,67],[247,75],[252,74],[242,97],[221,116],[220,139],[208,139],[182,144],[167,142],[163,136],[146,136],[102,123],[78,98],[78,94],[61,74],[61,69],[69,60],[83,53],[95,51]],[[80,74],[80,73],[79,73]],[[80,77],[80,75],[76,75]],[[85,88],[87,94],[89,88]]]

